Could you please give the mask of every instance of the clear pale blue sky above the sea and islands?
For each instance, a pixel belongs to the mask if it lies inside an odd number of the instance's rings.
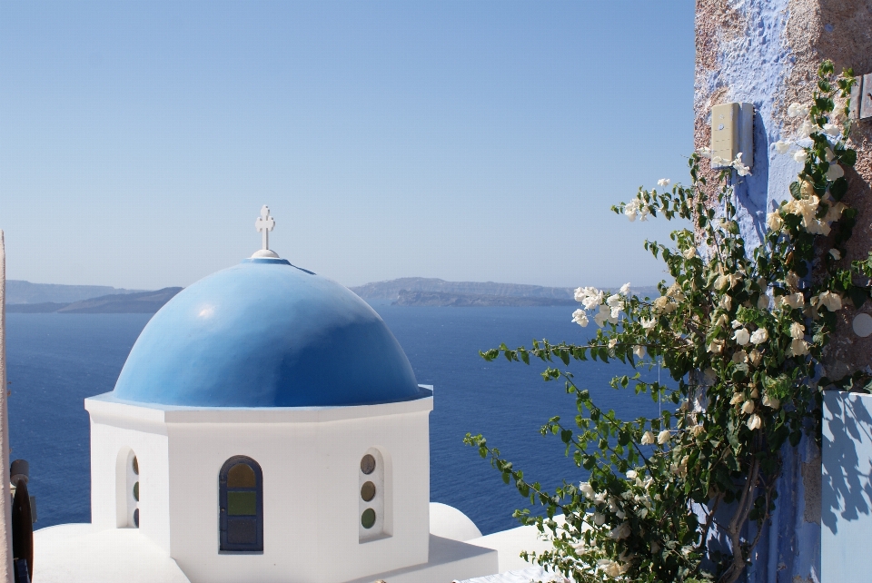
[[[692,0],[0,4],[7,277],[154,289],[259,248],[346,285],[659,281]]]

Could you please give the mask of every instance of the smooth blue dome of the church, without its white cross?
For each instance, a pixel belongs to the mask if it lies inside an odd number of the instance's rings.
[[[421,396],[400,344],[365,301],[276,259],[245,260],[179,292],[139,335],[112,394],[192,407]]]

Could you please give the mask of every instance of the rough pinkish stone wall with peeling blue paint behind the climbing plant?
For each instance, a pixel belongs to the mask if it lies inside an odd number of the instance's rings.
[[[752,175],[736,186],[739,224],[755,244],[766,213],[789,196],[801,170],[773,145],[794,137],[798,121],[788,120],[788,104],[810,100],[823,59],[837,70],[872,73],[872,0],[697,0],[696,33],[696,147],[709,145],[712,105],[748,102],[757,110]],[[851,138],[857,167],[847,171],[845,202],[858,216],[846,264],[872,249],[872,121],[856,124]],[[872,302],[861,311],[872,313]],[[851,330],[856,313],[851,307],[840,313],[827,356],[831,377],[872,364],[872,336],[861,339]],[[803,440],[796,450],[786,448],[784,458],[778,509],[748,568],[754,583],[820,579],[820,454],[812,440]]]

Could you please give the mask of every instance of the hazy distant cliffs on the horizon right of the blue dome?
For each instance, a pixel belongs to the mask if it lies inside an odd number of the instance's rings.
[[[575,304],[574,288],[497,282],[446,282],[404,277],[351,288],[366,301],[390,301],[400,306],[560,306]],[[614,291],[617,291],[617,286]],[[654,286],[632,288],[642,297],[659,295]]]

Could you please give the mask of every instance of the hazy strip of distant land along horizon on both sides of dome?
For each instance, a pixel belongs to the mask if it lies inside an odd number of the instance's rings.
[[[20,280],[6,282],[8,313],[154,313],[183,288],[153,292],[99,285],[58,285]],[[397,306],[477,308],[489,306],[572,306],[574,288],[500,282],[446,282],[436,278],[403,277],[350,288],[364,301]],[[617,292],[618,286],[605,288]],[[654,286],[634,287],[645,297],[659,295]]]

